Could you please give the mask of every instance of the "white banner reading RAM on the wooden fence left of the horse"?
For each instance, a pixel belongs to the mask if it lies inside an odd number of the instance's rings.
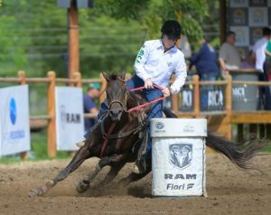
[[[55,93],[57,149],[78,150],[75,144],[84,137],[82,89],[56,87]]]

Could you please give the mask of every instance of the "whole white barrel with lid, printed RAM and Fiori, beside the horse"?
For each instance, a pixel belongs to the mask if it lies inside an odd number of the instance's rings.
[[[153,118],[152,193],[154,196],[207,196],[205,118]]]

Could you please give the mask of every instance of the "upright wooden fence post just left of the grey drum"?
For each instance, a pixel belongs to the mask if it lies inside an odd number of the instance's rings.
[[[228,124],[228,128],[227,128],[227,137],[229,140],[231,140],[231,104],[232,104],[232,101],[231,101],[231,89],[232,89],[232,79],[231,79],[231,76],[230,75],[227,75],[226,77],[226,81],[227,81],[227,85],[226,85],[226,92],[225,92],[225,106],[226,106],[226,112],[227,112],[227,124]]]

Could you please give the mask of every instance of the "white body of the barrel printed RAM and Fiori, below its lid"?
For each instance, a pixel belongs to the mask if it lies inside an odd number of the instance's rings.
[[[154,196],[206,196],[205,139],[153,138]]]

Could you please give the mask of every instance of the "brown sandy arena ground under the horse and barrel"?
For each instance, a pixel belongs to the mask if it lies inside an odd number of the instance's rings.
[[[0,214],[271,214],[271,154],[258,155],[262,173],[238,170],[220,154],[207,155],[209,197],[161,199],[151,196],[151,174],[120,191],[117,180],[132,170],[127,164],[117,179],[100,188],[108,168],[84,194],[75,191],[79,178],[88,173],[97,159],[86,161],[44,197],[29,198],[28,192],[60,172],[69,160],[0,165]],[[96,186],[96,188],[95,188]]]

